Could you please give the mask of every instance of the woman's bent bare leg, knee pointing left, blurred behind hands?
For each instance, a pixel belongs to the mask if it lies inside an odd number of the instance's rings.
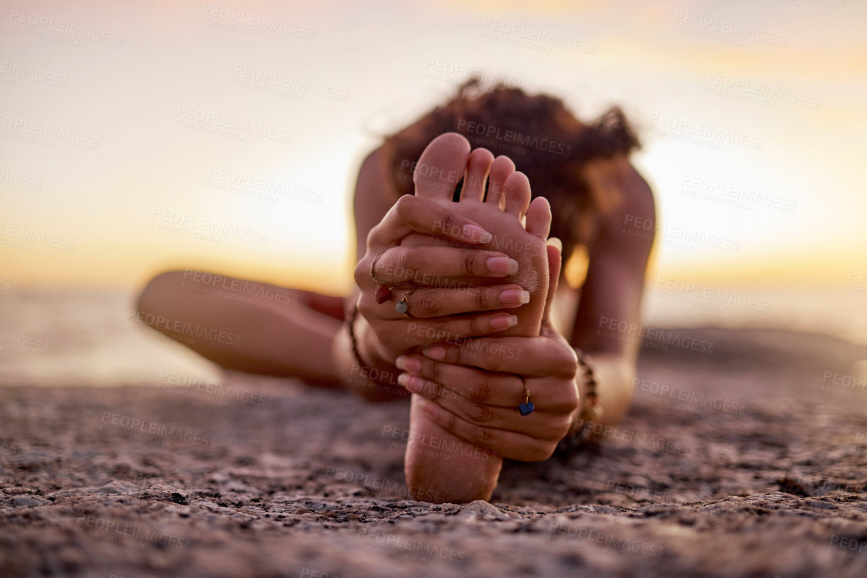
[[[140,321],[225,369],[340,386],[331,360],[339,297],[169,271],[147,283],[138,309]]]

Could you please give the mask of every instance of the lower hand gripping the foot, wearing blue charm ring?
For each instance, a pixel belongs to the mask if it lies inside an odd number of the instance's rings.
[[[551,271],[538,337],[481,337],[437,343],[402,355],[398,381],[426,399],[423,411],[447,432],[505,458],[551,457],[578,411],[575,350],[548,320],[557,290],[560,251],[549,245]],[[525,387],[534,411],[522,416]]]

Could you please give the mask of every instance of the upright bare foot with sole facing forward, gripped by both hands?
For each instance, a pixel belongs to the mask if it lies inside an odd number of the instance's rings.
[[[453,191],[461,177],[464,185],[460,202],[455,203]],[[488,194],[484,198],[488,180]],[[515,325],[492,336],[538,336],[548,293],[545,240],[551,229],[551,209],[544,198],[530,203],[530,182],[525,174],[515,171],[511,159],[505,156],[494,159],[492,153],[483,148],[470,153],[470,144],[464,137],[446,133],[434,139],[421,153],[414,182],[416,195],[447,206],[491,232],[493,239],[482,245],[483,248],[501,251],[517,262],[509,263],[508,272],[512,275],[505,279],[466,280],[471,284],[517,283],[530,293],[530,302],[509,309],[517,316]],[[438,243],[444,242],[414,234],[405,237],[401,245]],[[460,335],[452,335],[444,341],[460,338]],[[444,391],[443,394],[460,392]],[[433,496],[438,502],[464,503],[490,498],[497,487],[502,458],[434,424],[421,411],[419,399],[418,395],[412,396],[404,459],[407,487],[415,489],[417,495]],[[516,413],[518,404],[523,401],[515,400]]]

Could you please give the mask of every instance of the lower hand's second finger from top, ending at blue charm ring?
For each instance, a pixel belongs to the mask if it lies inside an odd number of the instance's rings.
[[[401,355],[394,363],[414,379],[460,387],[461,395],[474,403],[502,407],[524,403],[524,382],[514,373],[440,363],[422,355]]]

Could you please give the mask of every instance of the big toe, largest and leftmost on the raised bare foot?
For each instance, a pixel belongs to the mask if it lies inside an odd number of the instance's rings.
[[[440,134],[421,153],[415,165],[415,194],[452,200],[454,187],[464,176],[470,143],[458,133]]]

